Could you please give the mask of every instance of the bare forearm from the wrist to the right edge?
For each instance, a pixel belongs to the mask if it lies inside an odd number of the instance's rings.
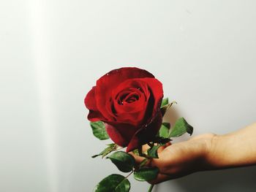
[[[207,161],[210,169],[256,164],[256,123],[212,139]]]

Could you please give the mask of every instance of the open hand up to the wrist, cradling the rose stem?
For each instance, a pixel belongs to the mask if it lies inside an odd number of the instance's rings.
[[[159,147],[159,158],[151,158],[146,166],[157,166],[159,174],[155,180],[148,183],[157,184],[165,180],[183,177],[193,172],[211,168],[208,163],[208,151],[211,149],[214,134],[202,134],[185,142],[175,144],[167,143]],[[148,150],[148,145],[143,145],[143,152]],[[131,153],[135,161],[140,164],[143,157]]]

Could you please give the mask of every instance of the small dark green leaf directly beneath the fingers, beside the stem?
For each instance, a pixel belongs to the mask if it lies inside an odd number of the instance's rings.
[[[133,176],[135,177],[135,180],[148,181],[157,178],[158,172],[159,169],[157,167],[143,167],[138,171],[135,171]]]

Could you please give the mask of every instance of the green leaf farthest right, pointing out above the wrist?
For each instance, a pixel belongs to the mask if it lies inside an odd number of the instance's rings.
[[[186,132],[192,135],[193,127],[190,126],[184,118],[179,118],[176,120],[172,131],[170,131],[169,137],[179,137]]]

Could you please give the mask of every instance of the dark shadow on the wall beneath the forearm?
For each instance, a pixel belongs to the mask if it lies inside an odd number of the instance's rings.
[[[226,169],[211,172],[198,172],[177,180],[167,181],[165,185],[155,188],[157,191],[170,191],[176,188],[178,192],[241,192],[256,191],[256,166]]]

